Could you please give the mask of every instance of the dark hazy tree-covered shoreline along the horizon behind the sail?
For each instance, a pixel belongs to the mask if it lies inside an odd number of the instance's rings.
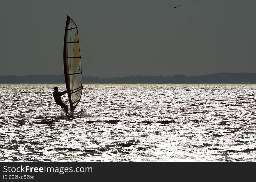
[[[173,76],[125,76],[99,78],[83,76],[83,83],[256,83],[256,73],[214,73],[200,76],[173,75]],[[0,83],[65,83],[63,74],[60,75],[25,75],[0,76]]]

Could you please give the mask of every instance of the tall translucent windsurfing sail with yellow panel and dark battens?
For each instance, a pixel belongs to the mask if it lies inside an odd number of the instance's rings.
[[[69,16],[66,21],[63,52],[67,95],[70,109],[74,111],[81,99],[83,85],[77,25]]]

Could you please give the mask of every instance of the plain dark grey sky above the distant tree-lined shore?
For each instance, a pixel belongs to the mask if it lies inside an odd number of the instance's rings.
[[[78,26],[84,76],[256,73],[255,7],[254,0],[1,0],[0,75],[64,74],[67,15]]]

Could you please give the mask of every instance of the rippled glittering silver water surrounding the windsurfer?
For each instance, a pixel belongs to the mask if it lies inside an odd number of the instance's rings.
[[[256,161],[256,84],[84,84],[73,118],[55,86],[0,84],[0,161]]]

